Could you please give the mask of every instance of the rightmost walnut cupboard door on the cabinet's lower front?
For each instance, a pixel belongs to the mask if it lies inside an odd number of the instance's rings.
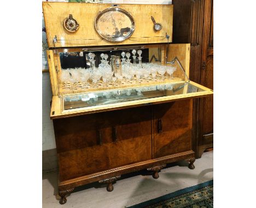
[[[193,100],[153,107],[153,158],[191,150]]]

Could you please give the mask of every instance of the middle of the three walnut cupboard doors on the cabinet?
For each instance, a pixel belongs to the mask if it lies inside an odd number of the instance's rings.
[[[108,115],[112,120],[112,138],[107,141],[110,167],[150,160],[151,107],[123,109]]]

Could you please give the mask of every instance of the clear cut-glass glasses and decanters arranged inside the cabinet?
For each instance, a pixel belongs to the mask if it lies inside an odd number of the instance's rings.
[[[138,54],[139,63],[136,64],[136,53]],[[168,74],[173,78],[173,72],[176,70],[173,66],[165,66],[156,63],[142,63],[142,51],[132,50],[133,63],[131,63],[131,54],[129,52],[121,53],[121,59],[118,56],[111,56],[110,63],[107,60],[108,54],[101,53],[101,63],[98,68],[95,66],[95,54],[89,53],[90,68],[74,68],[62,69],[61,81],[64,88],[71,88],[69,83],[73,83],[77,88],[89,88],[89,83],[95,86],[96,83],[103,81],[103,83],[114,82],[118,84],[124,78],[127,80],[135,80],[137,82],[149,82],[149,78],[153,81],[164,78]],[[125,58],[126,57],[126,58]]]

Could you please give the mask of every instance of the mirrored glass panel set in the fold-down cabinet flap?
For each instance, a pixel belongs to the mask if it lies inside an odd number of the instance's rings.
[[[64,111],[69,109],[104,106],[113,103],[144,100],[155,97],[182,95],[205,91],[194,85],[182,82],[158,84],[147,87],[126,88],[121,90],[106,90],[95,93],[63,95]]]

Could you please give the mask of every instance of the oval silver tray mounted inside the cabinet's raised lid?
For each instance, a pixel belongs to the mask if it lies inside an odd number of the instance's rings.
[[[135,30],[135,21],[124,9],[108,8],[97,15],[95,29],[102,38],[120,42],[132,35]]]

